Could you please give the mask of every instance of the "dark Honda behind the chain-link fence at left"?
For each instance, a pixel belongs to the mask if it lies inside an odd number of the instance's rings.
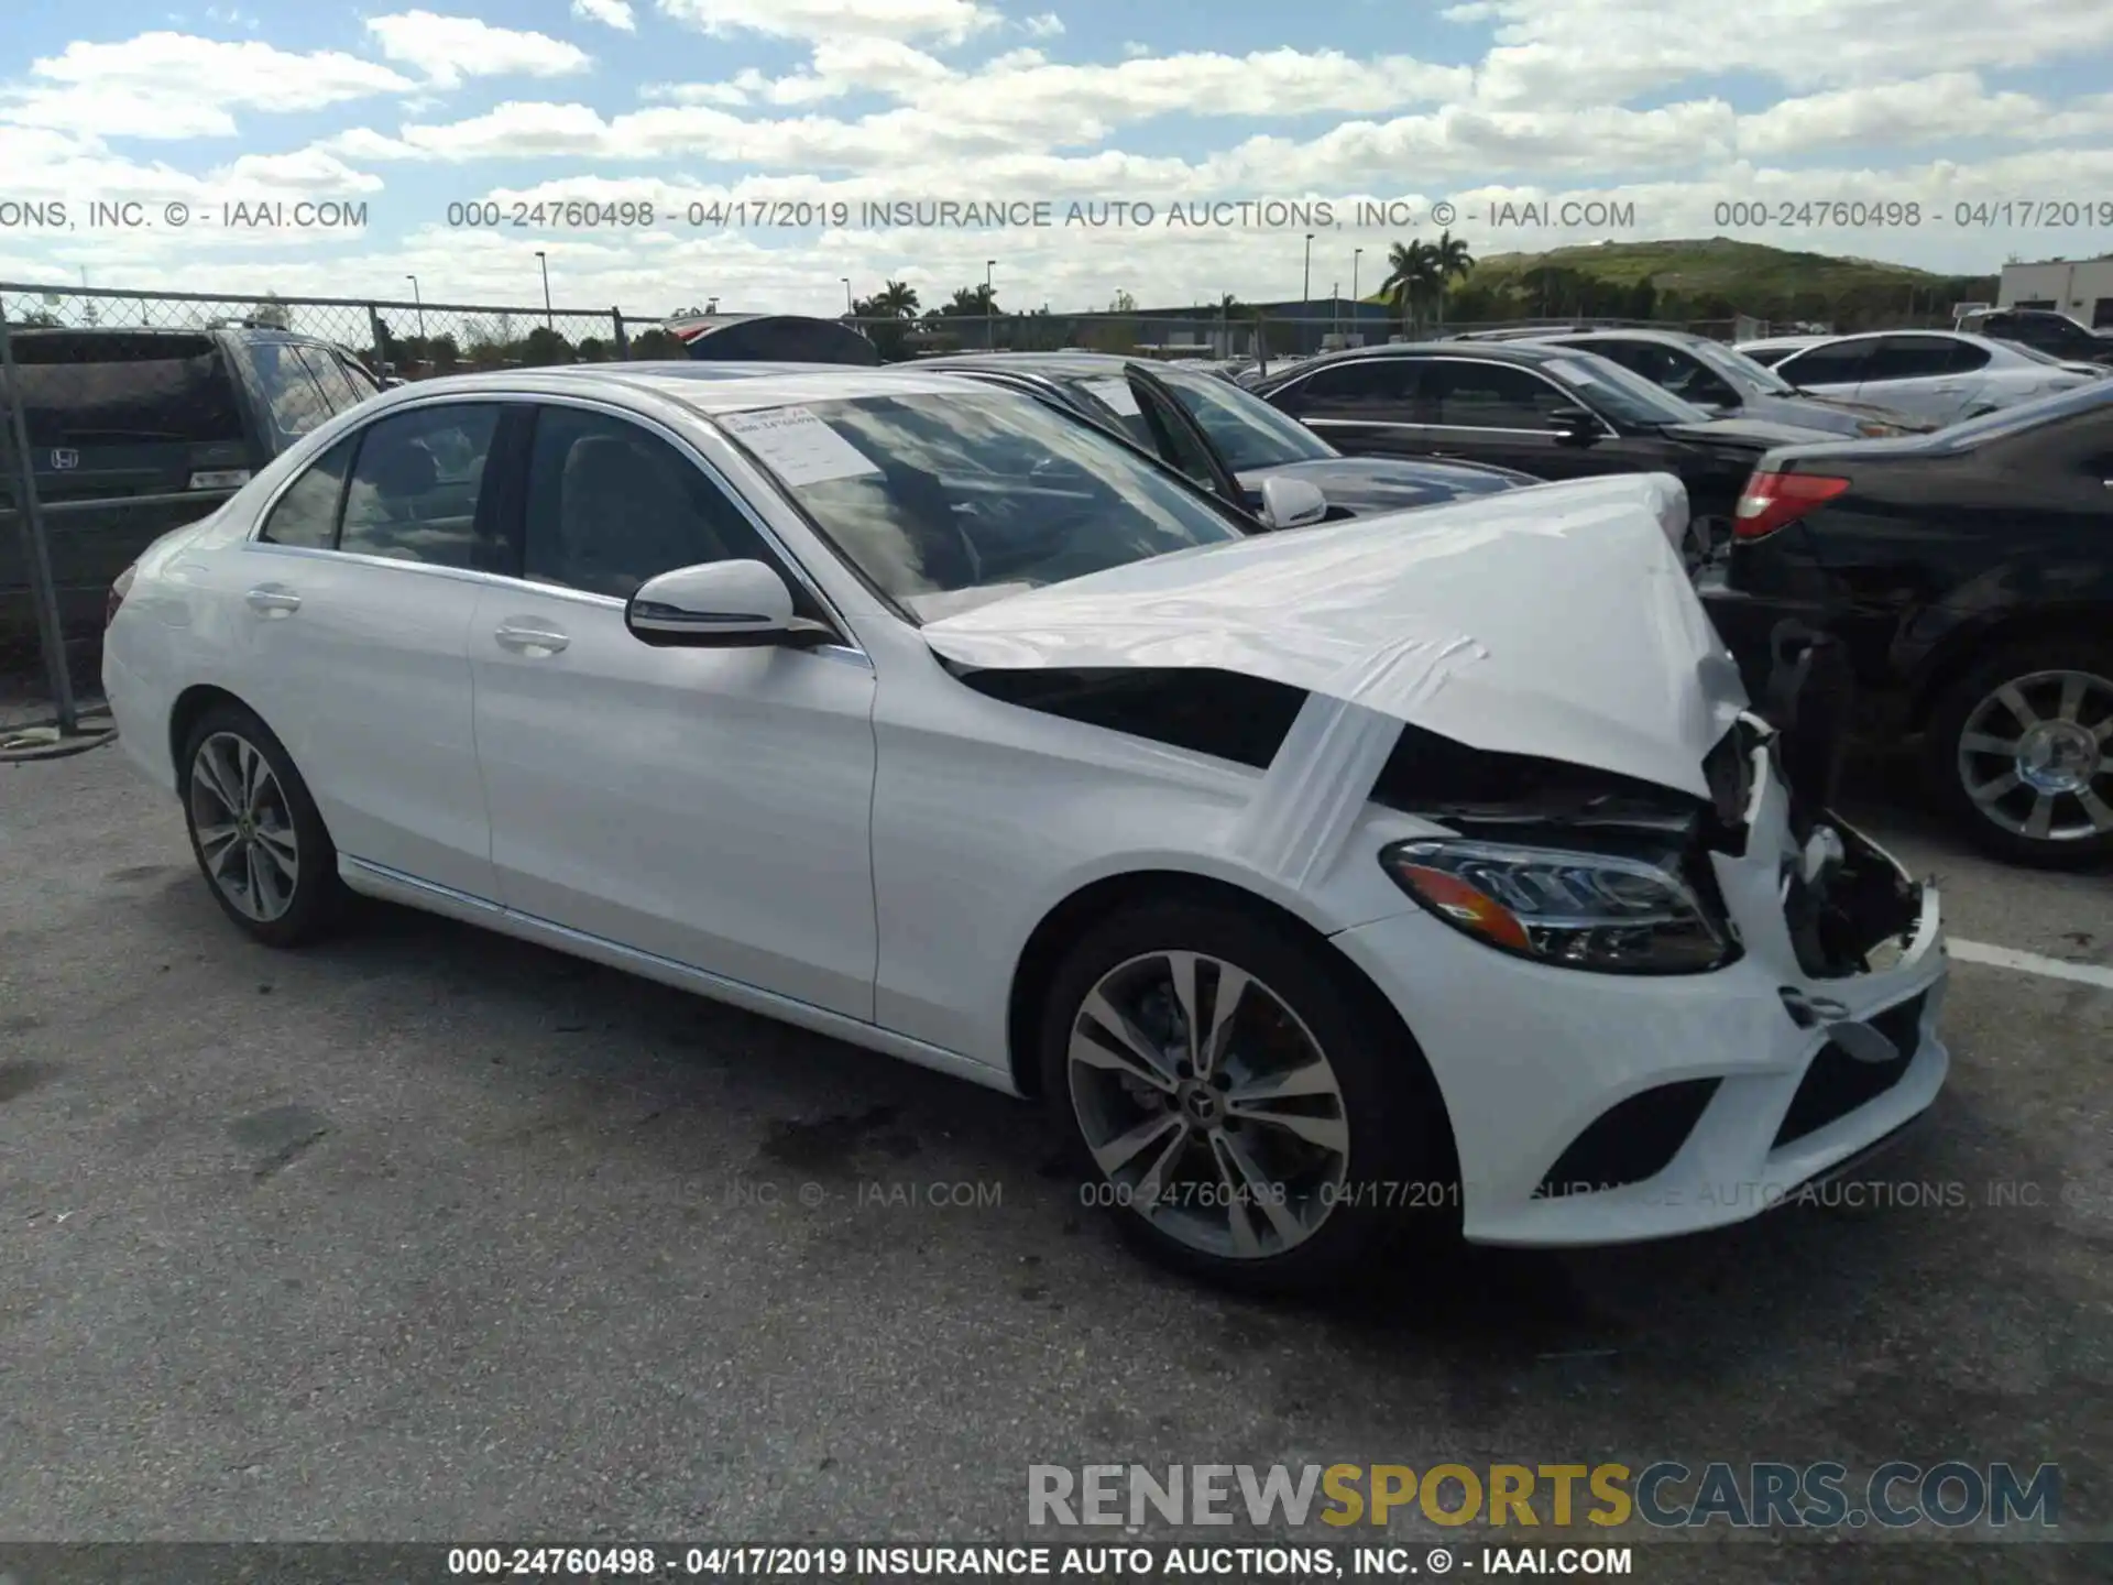
[[[110,581],[380,383],[340,347],[256,325],[11,330],[59,623],[101,626]],[[0,647],[36,645],[13,429],[0,429]]]

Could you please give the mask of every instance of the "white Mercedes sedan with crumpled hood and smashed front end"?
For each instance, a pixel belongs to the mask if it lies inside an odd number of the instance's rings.
[[[1684,526],[1253,533],[942,374],[520,370],[158,541],[104,683],[251,936],[357,892],[1040,1097],[1143,1245],[1304,1285],[1735,1222],[1936,1097],[1936,894],[1798,790]]]

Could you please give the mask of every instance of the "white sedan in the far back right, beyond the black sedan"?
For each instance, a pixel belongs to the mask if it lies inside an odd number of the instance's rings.
[[[2107,374],[1957,330],[1878,330],[1834,336],[1781,357],[1775,372],[1800,391],[1870,402],[1938,425],[1995,412]]]

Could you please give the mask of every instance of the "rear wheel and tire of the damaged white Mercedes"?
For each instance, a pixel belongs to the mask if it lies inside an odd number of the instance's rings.
[[[184,826],[213,900],[266,947],[298,947],[338,915],[338,850],[292,754],[251,710],[216,704],[180,765]]]

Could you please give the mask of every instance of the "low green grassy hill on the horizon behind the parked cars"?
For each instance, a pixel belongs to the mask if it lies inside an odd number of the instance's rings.
[[[1993,275],[1800,254],[1707,237],[1492,254],[1445,296],[1445,319],[1602,315],[1627,319],[1817,319],[1853,330],[1948,321],[1955,302],[1995,300]]]

